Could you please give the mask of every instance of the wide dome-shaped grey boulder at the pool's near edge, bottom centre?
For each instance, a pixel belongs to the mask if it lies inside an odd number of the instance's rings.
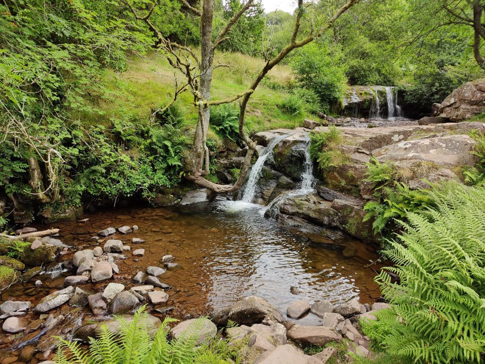
[[[265,299],[250,296],[212,315],[212,321],[216,325],[226,326],[227,320],[235,321],[240,325],[252,325],[259,324],[263,320],[269,323],[282,323],[285,318],[281,311]]]

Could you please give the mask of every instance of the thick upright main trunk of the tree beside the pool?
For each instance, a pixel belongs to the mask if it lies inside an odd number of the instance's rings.
[[[213,15],[214,0],[204,0],[200,25],[200,94],[205,101],[210,101],[210,87],[212,83],[214,49],[211,37]],[[206,139],[209,130],[210,108],[207,104],[202,103],[198,107],[199,116],[193,144],[194,167],[201,174],[209,174],[209,149],[207,148]]]

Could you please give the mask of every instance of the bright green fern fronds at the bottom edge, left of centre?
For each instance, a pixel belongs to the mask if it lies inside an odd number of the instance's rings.
[[[133,321],[121,324],[118,335],[103,325],[98,338],[91,338],[89,350],[80,344],[59,338],[55,363],[57,364],[223,364],[236,358],[238,348],[227,345],[225,340],[204,342],[197,346],[202,318],[184,331],[178,339],[168,340],[168,324],[177,320],[166,317],[153,338],[146,326],[145,307],[140,308]]]

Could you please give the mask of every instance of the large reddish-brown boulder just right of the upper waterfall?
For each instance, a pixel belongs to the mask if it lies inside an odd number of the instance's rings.
[[[438,107],[437,114],[451,121],[463,121],[484,111],[485,79],[467,82],[453,90]]]

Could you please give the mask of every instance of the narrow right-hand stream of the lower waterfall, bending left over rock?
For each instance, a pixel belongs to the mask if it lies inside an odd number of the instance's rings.
[[[268,206],[261,209],[262,214],[264,214],[266,211],[270,211],[270,216],[275,218],[279,212],[279,205],[284,200],[296,196],[307,195],[308,193],[313,192],[313,183],[315,182],[315,178],[313,177],[313,161],[309,152],[310,140],[308,139],[308,142],[302,144],[302,146],[305,155],[305,162],[303,164],[302,182],[300,182],[300,186],[295,190],[283,193],[276,197],[268,204]]]

